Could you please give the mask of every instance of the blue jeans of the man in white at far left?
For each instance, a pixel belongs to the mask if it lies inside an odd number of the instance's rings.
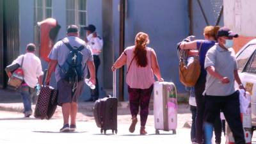
[[[20,88],[20,95],[22,97],[22,102],[24,105],[24,113],[27,111],[32,111],[31,109],[31,95],[34,92],[33,88],[29,86],[21,86]]]

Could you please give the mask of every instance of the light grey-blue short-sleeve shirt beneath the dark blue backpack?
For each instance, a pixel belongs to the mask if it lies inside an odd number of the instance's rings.
[[[90,46],[86,45],[83,40],[81,40],[76,36],[68,36],[67,39],[68,39],[68,43],[72,47],[80,47],[81,45],[84,45],[84,49],[81,51],[83,53],[83,63],[82,63],[83,67],[86,67],[87,61],[93,61],[92,49],[90,48]],[[68,47],[60,40],[54,45],[54,47],[52,48],[52,51],[48,56],[49,59],[58,61],[58,65],[56,66],[56,69],[55,69],[55,77],[57,82],[60,81],[61,79],[60,66],[63,65],[67,60],[67,56],[69,52],[70,51]],[[87,68],[84,68],[84,77],[86,76],[87,76]]]

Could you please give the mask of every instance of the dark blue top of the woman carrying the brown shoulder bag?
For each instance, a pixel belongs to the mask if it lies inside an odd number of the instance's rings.
[[[202,44],[202,45],[201,45]],[[204,61],[205,61],[205,55],[206,52],[213,46],[215,45],[214,41],[211,40],[196,40],[196,47],[199,50],[199,61],[200,61],[200,66],[201,66],[201,75],[206,77],[207,72],[204,68]],[[200,48],[201,46],[201,48]]]

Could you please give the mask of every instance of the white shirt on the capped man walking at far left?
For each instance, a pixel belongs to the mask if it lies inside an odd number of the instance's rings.
[[[32,52],[20,55],[12,64],[19,63],[21,65],[24,56],[22,70],[24,71],[24,81],[29,87],[34,88],[38,83],[38,77],[42,76],[42,64],[40,59]]]

